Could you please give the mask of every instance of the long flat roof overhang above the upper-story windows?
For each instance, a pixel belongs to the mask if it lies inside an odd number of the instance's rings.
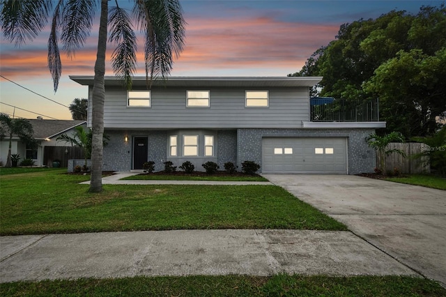
[[[91,75],[70,75],[70,79],[83,86],[93,86]],[[228,86],[228,87],[298,87],[314,86],[322,77],[167,77],[155,79],[153,86]],[[133,77],[133,86],[146,87],[146,77]],[[105,86],[123,86],[123,79],[115,76],[105,77]]]

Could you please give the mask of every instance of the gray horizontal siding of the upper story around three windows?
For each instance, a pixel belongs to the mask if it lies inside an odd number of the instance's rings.
[[[186,107],[187,90],[210,90],[210,107]],[[245,107],[246,90],[153,87],[151,107],[128,107],[127,92],[108,87],[104,125],[109,129],[300,128],[309,119],[308,87],[259,89],[269,91],[268,107]]]

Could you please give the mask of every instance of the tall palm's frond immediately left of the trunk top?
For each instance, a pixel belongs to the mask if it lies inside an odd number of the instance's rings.
[[[98,1],[68,0],[63,7],[61,40],[68,56],[73,56],[89,37],[97,4]]]

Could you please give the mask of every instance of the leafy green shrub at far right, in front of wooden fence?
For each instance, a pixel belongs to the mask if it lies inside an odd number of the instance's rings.
[[[429,150],[418,153],[414,158],[427,156],[432,169],[442,176],[446,176],[446,125],[434,135],[426,137],[413,137],[415,142],[421,142],[429,146]]]

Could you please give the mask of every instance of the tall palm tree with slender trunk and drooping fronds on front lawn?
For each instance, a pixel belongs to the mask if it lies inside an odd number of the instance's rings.
[[[109,9],[109,0],[100,1],[98,51],[92,94],[91,126],[93,129],[91,153],[90,192],[102,191],[102,135],[104,133],[105,52],[107,26],[109,41],[116,44],[112,67],[117,77],[132,87],[136,71],[137,38],[130,15],[118,6]],[[20,46],[36,38],[53,13],[48,40],[48,67],[54,82],[54,91],[61,77],[59,39],[68,56],[84,45],[89,36],[98,1],[93,0],[1,0],[0,23],[4,36]],[[185,21],[179,0],[134,0],[133,14],[144,36],[144,60],[148,88],[155,77],[169,75],[174,57],[183,51]],[[60,31],[60,32],[59,32]]]

